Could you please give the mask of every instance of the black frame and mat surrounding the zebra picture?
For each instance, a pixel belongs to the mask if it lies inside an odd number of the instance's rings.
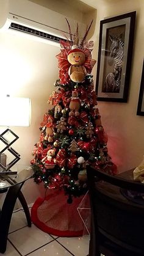
[[[129,78],[132,61],[132,46],[134,41],[135,16],[136,12],[134,11],[100,21],[98,69],[96,75],[96,93],[98,95],[99,101],[128,101]],[[123,31],[122,36],[124,40],[123,65],[121,70],[121,81],[119,89],[120,92],[107,92],[103,89],[103,84],[106,81],[106,76],[104,79],[104,71],[106,72],[108,70],[106,70],[106,67],[109,63],[107,62],[106,66],[106,57],[109,57],[107,52],[110,52],[109,49],[106,48],[106,46],[108,47],[108,45],[110,45],[110,30],[111,33],[113,32],[114,37],[117,36],[118,32],[120,32],[120,29],[121,31]],[[110,74],[112,74],[112,71],[110,72]]]

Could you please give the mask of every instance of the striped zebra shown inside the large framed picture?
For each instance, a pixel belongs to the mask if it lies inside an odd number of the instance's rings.
[[[124,42],[120,37],[115,36],[110,38],[110,55],[108,63],[112,65],[114,61],[113,72],[106,75],[105,91],[106,92],[120,92],[121,84],[121,71],[123,67],[123,53],[124,53]]]

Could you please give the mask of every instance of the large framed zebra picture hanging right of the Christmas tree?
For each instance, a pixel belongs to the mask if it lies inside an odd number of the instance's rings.
[[[127,102],[136,12],[100,21],[98,100]]]

